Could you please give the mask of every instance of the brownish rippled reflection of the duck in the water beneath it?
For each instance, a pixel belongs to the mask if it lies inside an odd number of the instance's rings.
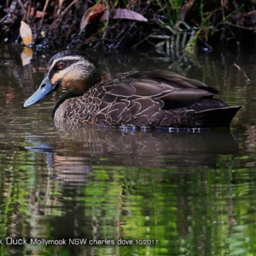
[[[229,131],[159,132],[59,127],[60,139],[27,136],[27,150],[44,152],[51,175],[68,185],[84,184],[97,166],[178,169],[216,167],[218,156],[237,154]],[[70,143],[70,138],[72,143]],[[101,159],[104,159],[102,162]]]

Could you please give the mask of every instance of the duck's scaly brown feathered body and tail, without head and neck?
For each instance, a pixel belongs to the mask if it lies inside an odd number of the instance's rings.
[[[54,113],[68,124],[229,127],[240,107],[212,99],[218,92],[172,72],[127,72],[64,100]]]

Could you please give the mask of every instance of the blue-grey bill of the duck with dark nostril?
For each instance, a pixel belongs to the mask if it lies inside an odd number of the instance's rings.
[[[23,104],[23,108],[28,108],[36,104],[38,101],[44,99],[45,96],[49,95],[50,93],[54,92],[58,86],[55,84],[51,84],[49,76],[45,76],[42,83],[40,84],[39,88],[36,90],[33,95],[31,95]]]

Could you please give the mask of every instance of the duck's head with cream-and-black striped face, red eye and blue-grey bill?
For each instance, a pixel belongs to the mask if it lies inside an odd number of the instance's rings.
[[[24,102],[23,108],[36,104],[60,87],[74,88],[77,95],[81,95],[97,83],[100,83],[100,74],[92,60],[79,51],[59,52],[52,56],[42,83]]]

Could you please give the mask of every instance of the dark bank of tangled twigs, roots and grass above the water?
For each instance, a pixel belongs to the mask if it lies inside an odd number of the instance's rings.
[[[108,13],[97,10],[97,4]],[[87,13],[90,19],[84,17],[88,8],[92,8]],[[145,20],[126,13],[116,17],[118,8],[140,13]],[[134,48],[179,55],[218,47],[239,49],[255,44],[255,13],[256,2],[250,0],[3,0],[0,41],[19,42],[23,20],[32,29],[33,45],[39,52],[100,47],[104,52]],[[83,19],[88,24],[81,29]]]

